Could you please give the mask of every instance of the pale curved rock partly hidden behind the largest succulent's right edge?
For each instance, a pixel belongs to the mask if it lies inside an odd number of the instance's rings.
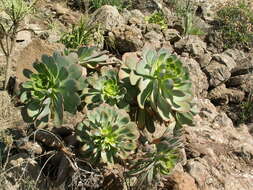
[[[188,57],[181,57],[180,60],[188,67],[190,72],[193,94],[197,97],[205,97],[207,95],[208,81],[198,62]]]

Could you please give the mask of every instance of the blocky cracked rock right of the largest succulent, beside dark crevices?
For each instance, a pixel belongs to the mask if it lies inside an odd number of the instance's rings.
[[[209,79],[209,85],[216,87],[222,83],[225,83],[231,76],[228,67],[215,60],[212,60],[208,66],[204,69]]]

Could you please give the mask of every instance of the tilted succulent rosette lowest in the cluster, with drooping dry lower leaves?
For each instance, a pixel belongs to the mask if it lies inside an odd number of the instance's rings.
[[[134,188],[154,187],[162,176],[169,175],[179,161],[179,146],[179,139],[172,136],[162,137],[156,144],[151,144],[144,157],[126,172],[127,177],[137,176]]]

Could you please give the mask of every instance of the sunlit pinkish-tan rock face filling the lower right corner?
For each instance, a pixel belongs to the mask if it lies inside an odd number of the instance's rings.
[[[225,113],[199,99],[196,126],[185,128],[185,170],[201,190],[253,188],[253,138],[246,126],[236,129]]]

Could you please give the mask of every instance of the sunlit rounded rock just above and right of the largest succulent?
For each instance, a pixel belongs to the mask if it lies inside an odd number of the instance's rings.
[[[188,52],[193,56],[199,57],[206,51],[206,43],[203,42],[198,36],[184,37],[175,43],[177,52]]]

